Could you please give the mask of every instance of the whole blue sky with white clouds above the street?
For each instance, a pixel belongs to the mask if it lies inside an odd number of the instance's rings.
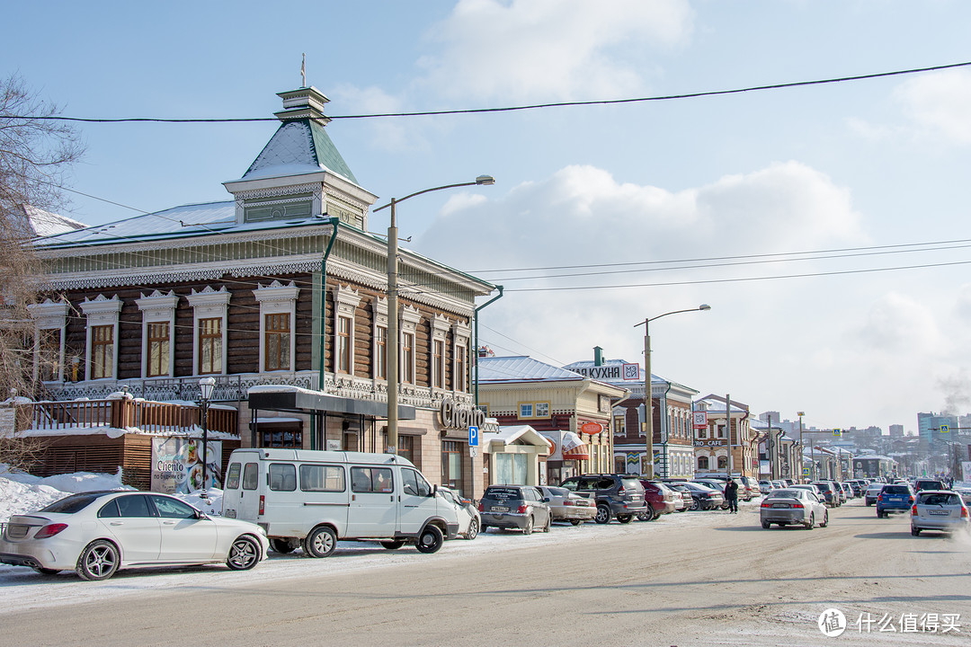
[[[645,319],[708,304],[650,324],[654,374],[699,396],[885,432],[971,411],[971,67],[341,118],[966,63],[969,3],[52,0],[5,18],[0,77],[68,116],[272,117],[306,54],[327,132],[376,207],[496,178],[397,217],[403,246],[503,285],[480,319],[498,355],[562,366],[600,346],[643,362]],[[79,123],[61,212],[101,224],[227,200],[221,182],[276,127]]]

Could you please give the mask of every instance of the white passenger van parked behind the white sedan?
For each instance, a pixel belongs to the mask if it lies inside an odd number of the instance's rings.
[[[406,542],[434,553],[458,534],[455,510],[400,456],[302,449],[236,449],[222,515],[259,524],[278,553],[327,557],[338,540]]]

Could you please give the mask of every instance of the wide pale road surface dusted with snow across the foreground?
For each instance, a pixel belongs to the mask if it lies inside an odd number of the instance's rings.
[[[327,560],[302,571],[308,560],[291,557],[279,577],[271,560],[251,581],[121,574],[109,580],[117,596],[92,602],[91,583],[28,573],[35,593],[70,587],[71,596],[4,612],[0,581],[0,644],[971,645],[967,536],[912,537],[907,517],[877,519],[861,501],[813,531],[763,531],[757,515],[755,505],[687,512],[614,523],[589,540],[568,535],[584,528],[554,527],[540,545],[493,530],[485,540],[500,549],[477,552],[479,539],[434,556],[405,548],[388,566],[334,572],[320,569]],[[341,559],[352,558],[329,558]],[[168,589],[137,586],[160,577]],[[818,626],[830,608],[849,624],[838,637]],[[857,626],[860,614],[872,624]]]

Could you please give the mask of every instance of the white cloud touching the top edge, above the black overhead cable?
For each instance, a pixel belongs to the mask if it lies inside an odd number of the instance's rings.
[[[428,32],[444,49],[420,61],[422,84],[464,100],[631,96],[645,53],[684,44],[692,20],[686,0],[459,0]]]

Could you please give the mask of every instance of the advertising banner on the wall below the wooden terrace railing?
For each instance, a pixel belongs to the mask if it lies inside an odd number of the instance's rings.
[[[207,445],[206,488],[222,488],[222,441]],[[203,488],[202,440],[185,437],[151,439],[151,491],[190,494]]]

